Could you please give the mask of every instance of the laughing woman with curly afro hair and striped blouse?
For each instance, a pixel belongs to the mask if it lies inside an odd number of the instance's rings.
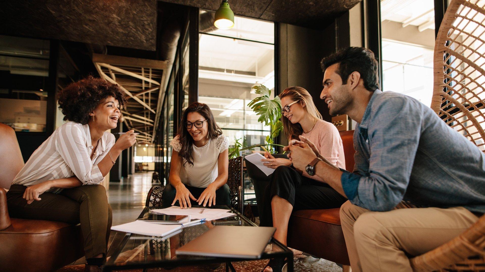
[[[34,151],[7,193],[13,217],[81,223],[85,271],[97,271],[106,259],[112,211],[103,181],[122,150],[135,143],[133,130],[115,142],[120,86],[89,76],[59,92],[59,108],[68,121]]]

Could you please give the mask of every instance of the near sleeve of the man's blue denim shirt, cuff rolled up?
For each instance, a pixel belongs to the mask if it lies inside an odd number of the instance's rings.
[[[388,98],[369,120],[369,175],[344,172],[342,188],[352,204],[387,211],[403,200],[420,140],[422,115],[415,101]],[[415,102],[418,103],[418,102]]]

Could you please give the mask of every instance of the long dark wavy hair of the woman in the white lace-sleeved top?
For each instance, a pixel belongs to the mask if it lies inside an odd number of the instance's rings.
[[[209,106],[204,103],[194,102],[189,105],[187,109],[183,112],[182,122],[178,125],[178,137],[179,142],[182,145],[180,148],[180,152],[178,152],[178,156],[185,159],[183,165],[188,162],[191,165],[194,165],[194,157],[192,156],[192,145],[194,144],[194,139],[190,136],[189,131],[185,128],[185,123],[187,122],[187,116],[190,112],[197,112],[202,115],[207,121],[208,132],[207,135],[211,140],[217,139],[220,135],[222,135],[222,129],[217,126],[214,121],[214,115],[210,111]],[[204,120],[201,120],[204,121]]]

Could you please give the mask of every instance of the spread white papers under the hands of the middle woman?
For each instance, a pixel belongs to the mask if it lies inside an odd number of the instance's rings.
[[[206,221],[217,220],[236,214],[228,212],[230,209],[219,208],[180,208],[172,206],[169,208],[151,209],[150,212],[169,215],[190,215],[192,219],[205,219]]]

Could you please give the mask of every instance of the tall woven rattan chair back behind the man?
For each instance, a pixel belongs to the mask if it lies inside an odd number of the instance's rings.
[[[439,27],[431,108],[485,150],[485,0],[452,0]]]

